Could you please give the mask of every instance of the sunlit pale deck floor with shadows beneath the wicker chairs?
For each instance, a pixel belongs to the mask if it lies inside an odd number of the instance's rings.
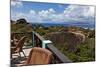
[[[20,67],[21,65],[24,65],[27,57],[29,56],[31,49],[32,49],[32,47],[27,47],[27,48],[23,47],[23,51],[24,51],[26,57],[24,57],[24,55],[22,53],[21,53],[21,57],[19,56],[18,53],[12,54],[11,67]]]

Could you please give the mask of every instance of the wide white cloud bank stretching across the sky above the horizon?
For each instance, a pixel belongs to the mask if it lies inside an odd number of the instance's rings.
[[[15,17],[17,19],[26,18],[29,22],[93,22],[94,14],[95,8],[93,6],[69,5],[62,13],[57,13],[53,8],[50,8],[37,12],[29,10],[28,13],[16,13]]]

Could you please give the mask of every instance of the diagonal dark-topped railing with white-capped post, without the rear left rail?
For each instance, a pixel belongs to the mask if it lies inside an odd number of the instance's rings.
[[[62,54],[55,46],[53,46],[53,43],[49,40],[45,40],[42,38],[38,33],[34,32],[34,40],[40,41],[41,47],[45,47],[46,49],[50,50],[53,53],[53,61],[52,63],[71,63],[72,61],[68,59],[64,54]],[[45,42],[45,43],[44,43]]]

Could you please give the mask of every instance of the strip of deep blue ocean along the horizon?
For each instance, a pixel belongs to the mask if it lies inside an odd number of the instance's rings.
[[[40,24],[45,27],[50,26],[64,26],[64,27],[70,27],[70,26],[76,26],[76,27],[82,27],[82,28],[88,28],[88,29],[95,29],[95,24],[89,24],[89,23],[33,23],[33,24]]]

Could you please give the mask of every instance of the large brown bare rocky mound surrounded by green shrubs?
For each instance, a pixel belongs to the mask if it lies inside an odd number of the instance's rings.
[[[78,44],[85,41],[85,35],[77,32],[54,32],[46,35],[54,44],[67,44],[70,51],[75,51]]]

